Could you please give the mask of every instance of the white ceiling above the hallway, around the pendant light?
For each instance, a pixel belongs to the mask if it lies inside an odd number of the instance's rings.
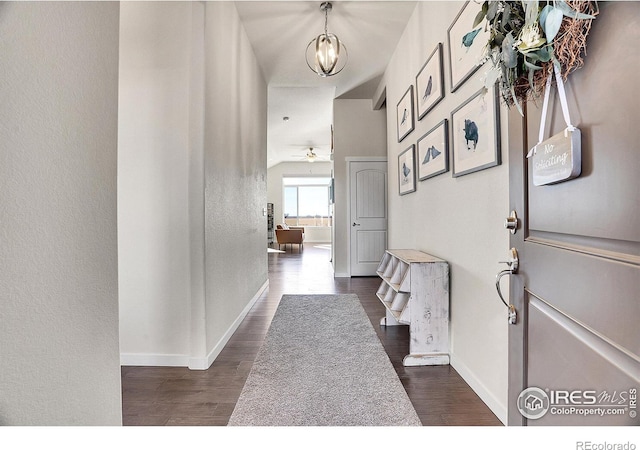
[[[321,78],[305,62],[307,44],[324,31],[320,3],[236,2],[269,89],[268,167],[305,161],[310,147],[329,160],[333,100],[372,98],[416,5],[333,1],[328,31],[339,36],[349,60],[338,75]]]

